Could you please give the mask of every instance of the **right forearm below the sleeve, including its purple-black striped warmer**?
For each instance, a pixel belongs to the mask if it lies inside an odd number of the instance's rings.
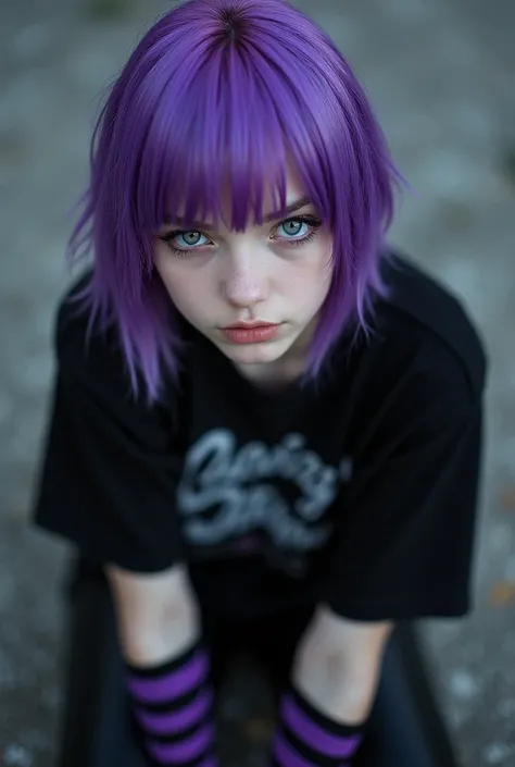
[[[355,622],[321,605],[280,704],[274,767],[342,767],[356,753],[392,624]]]

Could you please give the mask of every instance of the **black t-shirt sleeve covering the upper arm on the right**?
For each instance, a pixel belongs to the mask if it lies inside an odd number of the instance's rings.
[[[482,392],[432,357],[400,394],[356,467],[334,541],[326,602],[351,620],[470,609]]]

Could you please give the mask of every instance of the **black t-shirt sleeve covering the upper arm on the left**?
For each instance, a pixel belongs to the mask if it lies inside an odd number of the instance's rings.
[[[172,417],[136,398],[109,336],[58,321],[58,370],[36,525],[89,561],[158,572],[180,558]]]

